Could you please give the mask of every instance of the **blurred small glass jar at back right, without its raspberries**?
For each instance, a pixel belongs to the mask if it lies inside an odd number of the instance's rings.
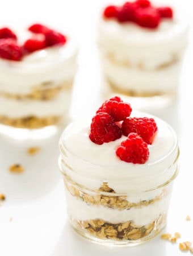
[[[188,42],[187,23],[177,15],[163,19],[155,29],[99,19],[104,98],[116,94],[146,112],[175,102]]]

